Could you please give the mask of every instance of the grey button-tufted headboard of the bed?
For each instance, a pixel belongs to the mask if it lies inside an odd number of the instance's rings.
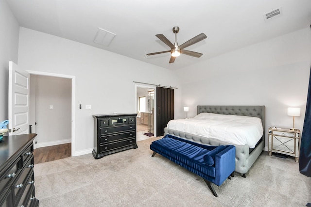
[[[198,114],[202,112],[258,117],[262,122],[264,137],[265,106],[198,106]]]

